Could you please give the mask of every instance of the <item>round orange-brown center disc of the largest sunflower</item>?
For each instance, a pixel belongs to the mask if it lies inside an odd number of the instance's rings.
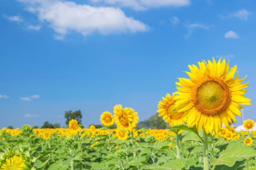
[[[197,110],[205,115],[215,115],[225,109],[229,101],[227,85],[218,78],[202,82],[194,91]]]

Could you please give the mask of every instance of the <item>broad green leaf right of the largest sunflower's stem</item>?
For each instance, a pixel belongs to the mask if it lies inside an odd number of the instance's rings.
[[[256,156],[256,150],[238,143],[229,143],[227,148],[220,153],[219,158],[212,157],[210,163],[214,165],[227,165],[232,167],[236,161]]]

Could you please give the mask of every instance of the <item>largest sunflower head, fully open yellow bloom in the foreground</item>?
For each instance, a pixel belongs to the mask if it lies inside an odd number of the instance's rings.
[[[179,78],[176,82],[179,91],[175,107],[179,107],[179,112],[184,112],[183,117],[187,117],[187,125],[190,127],[196,125],[197,130],[201,128],[206,133],[217,134],[222,124],[228,128],[231,120],[236,122],[235,115],[241,116],[240,109],[242,105],[251,105],[250,99],[243,94],[248,87],[248,83],[240,84],[244,78],[235,78],[236,65],[229,68],[229,62],[226,64],[225,59],[216,63],[208,60],[207,62],[198,62],[196,65],[189,65],[191,72],[186,72],[189,79]],[[230,70],[229,70],[230,69]]]

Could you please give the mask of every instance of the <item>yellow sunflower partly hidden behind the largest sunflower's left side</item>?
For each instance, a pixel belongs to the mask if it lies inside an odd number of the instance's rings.
[[[184,124],[182,119],[184,112],[178,112],[177,108],[174,107],[174,103],[177,102],[177,100],[174,100],[174,93],[172,93],[172,96],[167,93],[165,97],[163,97],[164,101],[161,100],[158,103],[158,116],[163,116],[163,120],[168,122],[170,126]]]

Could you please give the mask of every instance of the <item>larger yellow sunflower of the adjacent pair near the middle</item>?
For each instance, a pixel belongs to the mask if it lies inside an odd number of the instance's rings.
[[[138,123],[138,113],[134,112],[132,108],[125,107],[123,109],[122,105],[115,105],[114,116],[117,127],[121,130],[132,131]]]

